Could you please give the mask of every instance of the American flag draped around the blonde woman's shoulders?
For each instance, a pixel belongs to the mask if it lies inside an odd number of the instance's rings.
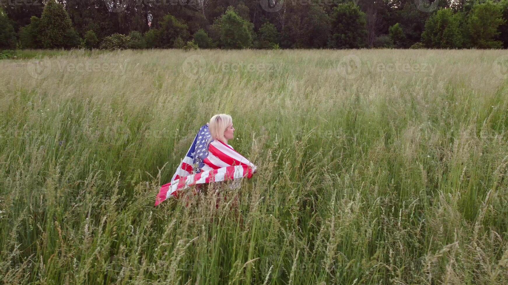
[[[251,178],[256,166],[235,151],[231,145],[210,139],[208,124],[200,128],[187,154],[180,162],[171,182],[161,186],[155,206],[170,196],[197,184]]]

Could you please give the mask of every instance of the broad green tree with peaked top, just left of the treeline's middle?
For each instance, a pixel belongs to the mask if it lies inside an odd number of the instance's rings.
[[[218,33],[219,46],[225,49],[245,49],[252,46],[253,26],[238,16],[233,7],[213,23]]]

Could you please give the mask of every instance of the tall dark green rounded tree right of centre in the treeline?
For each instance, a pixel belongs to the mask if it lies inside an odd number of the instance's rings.
[[[339,4],[332,11],[332,32],[328,46],[336,49],[358,49],[365,46],[367,29],[365,13],[352,2]]]

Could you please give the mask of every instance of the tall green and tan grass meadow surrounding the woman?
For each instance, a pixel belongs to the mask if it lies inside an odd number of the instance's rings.
[[[0,282],[508,283],[506,51],[22,54],[0,61]],[[215,113],[258,166],[219,189],[238,208],[154,207]]]

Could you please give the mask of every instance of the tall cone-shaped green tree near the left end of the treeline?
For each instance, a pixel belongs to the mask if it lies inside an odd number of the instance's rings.
[[[43,48],[72,48],[80,44],[79,36],[72,26],[63,5],[50,0],[42,12],[39,24],[40,42]]]

